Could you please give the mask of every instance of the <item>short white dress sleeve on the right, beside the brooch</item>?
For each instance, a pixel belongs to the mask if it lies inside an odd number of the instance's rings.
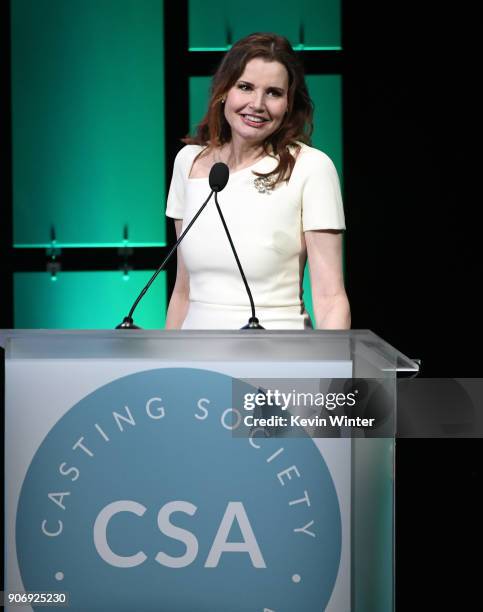
[[[344,206],[334,163],[325,153],[310,149],[304,159],[302,229],[345,229]]]

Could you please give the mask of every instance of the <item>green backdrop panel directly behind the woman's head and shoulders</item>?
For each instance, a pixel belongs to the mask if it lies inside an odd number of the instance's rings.
[[[339,75],[309,75],[306,80],[315,106],[312,145],[327,153],[332,159],[342,184],[342,78]],[[197,123],[205,113],[210,83],[210,77],[190,78],[190,127],[192,132],[195,131]],[[307,266],[303,287],[305,306],[315,324]]]

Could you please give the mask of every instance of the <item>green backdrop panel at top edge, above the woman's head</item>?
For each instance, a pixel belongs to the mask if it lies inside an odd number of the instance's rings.
[[[253,32],[276,32],[296,49],[340,49],[340,0],[189,0],[190,51],[225,50]]]

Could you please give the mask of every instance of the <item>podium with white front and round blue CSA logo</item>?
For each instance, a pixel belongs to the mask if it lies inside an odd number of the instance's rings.
[[[396,377],[418,364],[384,340],[0,340],[15,610],[40,597],[79,612],[394,609]]]

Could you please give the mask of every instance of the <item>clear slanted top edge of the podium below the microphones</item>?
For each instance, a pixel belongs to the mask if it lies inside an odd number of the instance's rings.
[[[169,360],[350,361],[381,372],[418,372],[419,364],[371,330],[0,330],[8,359],[141,357]],[[356,368],[358,369],[358,368]]]

